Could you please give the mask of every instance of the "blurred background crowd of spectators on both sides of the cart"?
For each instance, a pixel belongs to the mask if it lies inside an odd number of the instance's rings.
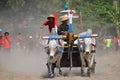
[[[108,52],[120,50],[120,37],[102,36],[98,40],[98,49]],[[12,38],[9,32],[0,32],[0,52],[9,53],[11,50],[34,51],[40,48],[40,36],[30,35],[25,37],[22,33],[18,33]]]

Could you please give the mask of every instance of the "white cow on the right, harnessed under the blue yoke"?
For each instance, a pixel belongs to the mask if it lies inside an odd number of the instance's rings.
[[[86,34],[88,32],[83,32],[81,34]],[[88,65],[87,74],[90,76],[91,68],[93,67],[93,62],[95,59],[95,48],[96,48],[96,39],[94,37],[91,38],[84,38],[84,39],[77,39],[74,41],[74,44],[77,44],[79,48],[84,48],[84,52],[81,52],[81,73],[82,75],[85,75],[84,73],[84,67]],[[84,44],[84,45],[83,45]],[[86,62],[87,61],[87,62]]]

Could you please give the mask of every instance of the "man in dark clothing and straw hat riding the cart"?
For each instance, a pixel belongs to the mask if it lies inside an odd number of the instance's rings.
[[[58,35],[67,35],[69,32],[68,17],[63,16],[61,22],[62,24],[58,27]]]

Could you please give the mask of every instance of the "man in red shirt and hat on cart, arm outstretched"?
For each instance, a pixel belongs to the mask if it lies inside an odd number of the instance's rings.
[[[55,26],[55,19],[54,19],[54,16],[51,14],[47,17],[47,21],[43,22],[41,28],[43,28],[44,26],[47,26],[49,27],[49,33],[51,34],[52,33],[52,28],[54,28]]]

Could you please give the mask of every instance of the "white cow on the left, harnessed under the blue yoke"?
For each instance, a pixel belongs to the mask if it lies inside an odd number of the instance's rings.
[[[53,63],[56,63],[57,67],[57,75],[61,75],[61,67],[60,67],[60,61],[62,58],[62,53],[64,50],[64,42],[63,40],[58,39],[50,39],[50,40],[44,40],[41,42],[44,43],[45,49],[47,49],[48,54],[48,60],[47,60],[47,67],[48,67],[48,74],[49,77],[54,77],[54,65]]]

